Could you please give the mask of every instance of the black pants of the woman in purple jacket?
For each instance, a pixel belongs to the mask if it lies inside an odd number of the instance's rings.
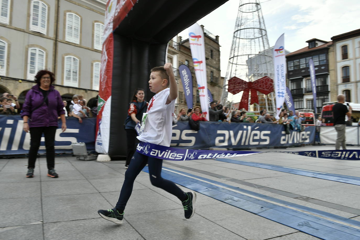
[[[37,157],[37,150],[40,147],[40,141],[42,133],[45,137],[46,148],[46,162],[48,163],[48,169],[54,169],[55,166],[55,132],[57,127],[31,127],[30,128],[30,150],[28,168],[35,168],[35,161]]]

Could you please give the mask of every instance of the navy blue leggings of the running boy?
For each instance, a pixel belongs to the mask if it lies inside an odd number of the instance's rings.
[[[143,170],[146,164],[149,164],[149,177],[152,185],[177,196],[180,200],[183,200],[186,197],[184,191],[176,186],[174,182],[161,177],[162,159],[150,158],[135,152],[131,159],[129,168],[125,172],[125,180],[122,184],[119,200],[116,204],[117,209],[125,209],[126,203],[132,192],[132,187],[134,186],[135,178],[139,175],[141,170]]]

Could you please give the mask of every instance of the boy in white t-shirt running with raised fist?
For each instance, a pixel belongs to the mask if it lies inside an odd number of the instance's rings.
[[[175,99],[177,98],[177,85],[171,63],[151,69],[149,88],[156,94],[150,100],[146,113],[143,114],[142,133],[138,139],[142,142],[169,147],[172,136],[172,114],[175,110]],[[129,168],[125,172],[125,180],[115,208],[98,210],[101,217],[116,224],[122,224],[124,209],[130,198],[135,178],[147,163],[149,164],[151,184],[179,198],[184,207],[185,218],[188,219],[194,215],[195,192],[185,193],[174,182],[162,178],[162,159],[147,157],[136,151]]]

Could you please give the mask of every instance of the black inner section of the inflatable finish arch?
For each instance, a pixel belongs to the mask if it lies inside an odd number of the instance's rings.
[[[114,31],[109,155],[126,156],[125,121],[135,88],[149,91],[150,69],[165,64],[168,41],[228,0],[139,0]],[[221,16],[219,16],[221,17]]]

